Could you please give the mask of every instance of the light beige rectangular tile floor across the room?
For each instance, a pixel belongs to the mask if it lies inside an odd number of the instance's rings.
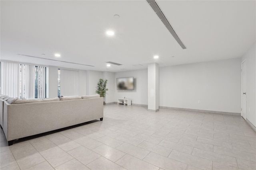
[[[1,170],[255,170],[256,133],[240,116],[104,106],[104,120],[7,146]]]

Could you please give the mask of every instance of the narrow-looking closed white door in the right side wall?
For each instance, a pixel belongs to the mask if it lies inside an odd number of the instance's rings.
[[[241,116],[246,120],[246,61],[241,64]]]

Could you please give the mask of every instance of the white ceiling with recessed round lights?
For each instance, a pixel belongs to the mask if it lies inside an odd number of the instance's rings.
[[[187,49],[146,0],[1,0],[1,60],[120,72],[147,68],[148,63],[170,66],[238,58],[256,41],[254,0],[156,2]],[[106,36],[108,29],[115,31],[113,37]],[[123,65],[107,68],[108,61]]]

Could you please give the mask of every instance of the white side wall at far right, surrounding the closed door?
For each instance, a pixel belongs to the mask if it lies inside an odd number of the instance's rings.
[[[243,55],[242,61],[244,60],[246,60],[246,119],[256,126],[256,43]]]

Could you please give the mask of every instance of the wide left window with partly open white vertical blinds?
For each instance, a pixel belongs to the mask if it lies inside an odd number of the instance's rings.
[[[1,62],[1,94],[18,98],[46,98],[48,68]]]

